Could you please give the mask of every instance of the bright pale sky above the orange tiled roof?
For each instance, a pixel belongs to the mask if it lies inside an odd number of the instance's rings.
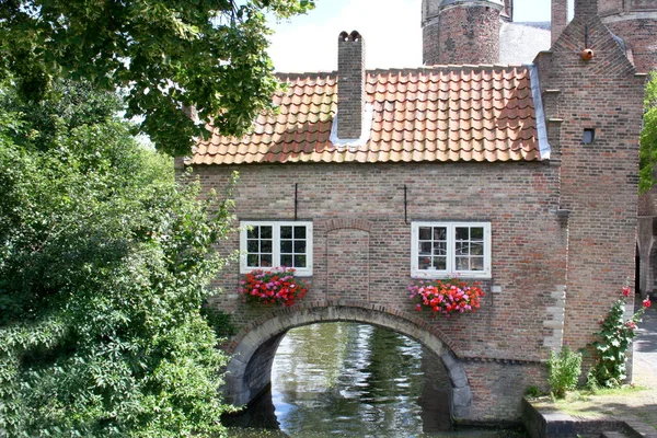
[[[366,67],[422,65],[422,0],[315,0],[306,15],[272,22],[269,56],[276,71],[332,71],[337,68],[337,36],[358,31]],[[550,21],[550,0],[516,0],[514,21]]]

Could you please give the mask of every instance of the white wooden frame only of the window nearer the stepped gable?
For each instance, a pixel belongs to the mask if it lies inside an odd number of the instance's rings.
[[[419,258],[419,228],[445,227],[447,228],[447,268],[420,269]],[[456,229],[458,227],[481,227],[484,229],[484,269],[483,270],[456,270]],[[459,276],[462,278],[491,278],[491,222],[442,222],[442,221],[414,221],[411,224],[411,276],[415,278],[446,278]]]

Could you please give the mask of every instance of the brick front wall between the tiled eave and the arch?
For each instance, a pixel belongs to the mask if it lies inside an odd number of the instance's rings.
[[[555,290],[565,281],[566,230],[555,215],[558,168],[548,163],[389,163],[198,166],[205,189],[219,191],[233,170],[241,219],[313,221],[314,272],[308,300],[367,299],[415,312],[408,220],[489,220],[493,278],[480,312],[428,316],[463,356],[543,360],[554,332]],[[338,224],[336,224],[338,223]],[[342,224],[339,224],[342,223]],[[237,233],[222,249],[239,246]],[[366,283],[365,279],[368,279]],[[238,325],[261,312],[239,301],[237,265],[217,279],[215,306]],[[495,291],[493,291],[495,290]]]

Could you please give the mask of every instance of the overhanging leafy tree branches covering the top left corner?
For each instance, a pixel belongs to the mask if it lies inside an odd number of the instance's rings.
[[[226,135],[241,134],[277,87],[265,14],[288,18],[312,0],[13,0],[0,2],[0,80],[41,100],[53,78],[84,78],[126,93],[127,116],[171,154],[206,135],[194,105]]]

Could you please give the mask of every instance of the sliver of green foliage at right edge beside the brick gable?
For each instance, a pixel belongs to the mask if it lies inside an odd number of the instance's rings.
[[[639,193],[645,193],[655,185],[653,170],[657,162],[657,72],[650,74],[644,104],[644,127],[641,132],[639,152]]]

